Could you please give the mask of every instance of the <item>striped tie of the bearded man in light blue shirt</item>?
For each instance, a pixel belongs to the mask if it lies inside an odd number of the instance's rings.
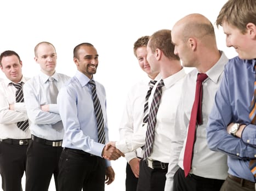
[[[103,112],[101,109],[100,101],[96,92],[95,81],[90,80],[88,83],[92,86],[93,106],[94,106],[94,112],[95,112],[97,126],[98,126],[98,142],[101,144],[105,144],[104,118],[103,118]]]

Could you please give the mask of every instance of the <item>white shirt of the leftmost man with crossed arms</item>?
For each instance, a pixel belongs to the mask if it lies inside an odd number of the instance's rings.
[[[20,82],[26,83],[29,78],[22,76]],[[17,89],[9,79],[0,81],[0,139],[29,139],[30,129],[25,132],[17,127],[17,122],[26,121],[27,110],[24,102],[16,103]],[[14,104],[14,110],[9,105]]]

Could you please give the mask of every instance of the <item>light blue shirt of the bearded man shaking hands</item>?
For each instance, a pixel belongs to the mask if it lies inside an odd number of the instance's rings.
[[[81,73],[71,78],[58,94],[57,103],[64,126],[62,147],[74,148],[101,157],[104,144],[98,143],[98,130],[92,100],[90,79]],[[106,92],[103,85],[96,82],[96,92],[103,111],[106,142],[109,142],[109,130],[106,115]],[[106,166],[110,162],[106,160]]]

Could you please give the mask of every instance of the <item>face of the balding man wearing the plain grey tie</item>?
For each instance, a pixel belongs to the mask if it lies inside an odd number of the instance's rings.
[[[41,71],[52,76],[55,72],[57,55],[55,49],[50,44],[40,44],[37,47],[35,61],[40,65]]]

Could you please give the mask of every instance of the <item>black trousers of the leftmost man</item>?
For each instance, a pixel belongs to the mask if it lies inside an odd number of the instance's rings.
[[[0,142],[0,174],[4,191],[22,190],[21,179],[26,170],[27,145]]]

